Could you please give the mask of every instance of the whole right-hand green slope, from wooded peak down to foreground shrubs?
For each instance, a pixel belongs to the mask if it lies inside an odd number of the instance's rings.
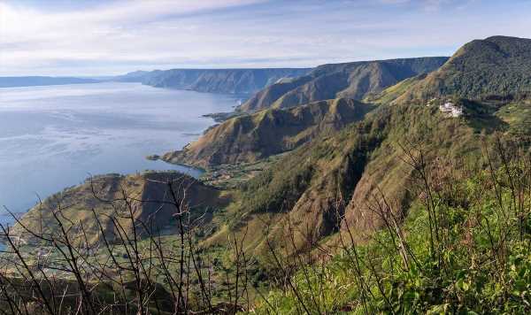
[[[235,218],[276,216],[249,248],[290,253],[266,259],[281,274],[307,264],[258,313],[531,311],[527,43],[466,44],[243,188]],[[449,117],[443,103],[463,114]]]

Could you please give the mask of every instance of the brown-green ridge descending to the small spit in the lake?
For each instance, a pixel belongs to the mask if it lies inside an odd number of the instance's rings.
[[[162,158],[203,167],[254,162],[335,132],[363,119],[372,109],[372,105],[339,98],[290,109],[259,111],[228,119],[183,150],[167,153]]]

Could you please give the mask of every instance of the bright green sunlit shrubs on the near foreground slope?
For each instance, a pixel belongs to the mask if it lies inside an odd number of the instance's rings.
[[[452,179],[451,187],[434,192],[433,203],[419,198],[412,205],[404,247],[393,245],[398,234],[383,228],[372,242],[349,246],[322,267],[305,266],[292,279],[297,295],[276,290],[257,312],[291,314],[306,304],[319,305],[315,314],[529,313],[527,167],[502,165]]]

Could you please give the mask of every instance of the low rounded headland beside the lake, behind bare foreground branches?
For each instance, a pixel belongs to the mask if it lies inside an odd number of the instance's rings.
[[[20,219],[20,224],[14,227],[15,234],[27,242],[39,242],[23,228],[27,227],[61,239],[58,220],[76,243],[85,242],[83,234],[88,235],[89,243],[103,242],[99,224],[108,242],[117,242],[122,228],[131,233],[134,224],[141,236],[148,233],[146,227],[152,233],[174,233],[177,229],[174,214],[179,210],[168,204],[173,202],[168,181],[173,182],[175,196],[188,204],[192,217],[194,213],[203,215],[225,204],[219,190],[181,173],[108,174],[45,199]]]

